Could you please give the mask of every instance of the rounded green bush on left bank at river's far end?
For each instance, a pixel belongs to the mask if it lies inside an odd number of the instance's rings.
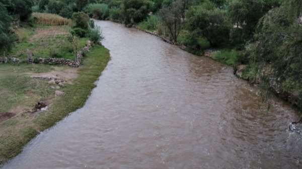
[[[107,4],[89,4],[84,8],[84,12],[98,20],[105,20],[109,17]]]

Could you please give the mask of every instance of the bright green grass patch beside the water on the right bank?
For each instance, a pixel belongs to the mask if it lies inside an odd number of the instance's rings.
[[[235,67],[238,64],[240,55],[241,53],[239,51],[222,49],[220,51],[213,52],[210,57],[218,62]]]

